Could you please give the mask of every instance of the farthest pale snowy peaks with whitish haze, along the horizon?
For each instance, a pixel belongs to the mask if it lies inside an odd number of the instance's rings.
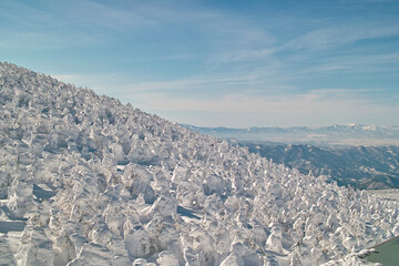
[[[316,145],[399,145],[399,126],[361,124],[248,129],[183,126],[219,139],[238,141]]]

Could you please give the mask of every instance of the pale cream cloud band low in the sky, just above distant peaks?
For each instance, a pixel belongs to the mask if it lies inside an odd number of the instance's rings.
[[[315,90],[296,98],[233,94],[200,100],[151,93],[151,96],[145,94],[143,98],[135,94],[134,99],[147,106],[147,111],[172,120],[173,116],[180,117],[181,123],[212,126],[370,124],[376,123],[372,121],[377,117],[383,124],[399,115],[396,106],[370,103],[367,99],[354,96],[350,90]],[[173,115],[170,117],[170,114]]]

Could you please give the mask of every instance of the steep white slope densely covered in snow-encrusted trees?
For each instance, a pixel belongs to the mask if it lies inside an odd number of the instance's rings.
[[[320,265],[399,235],[396,201],[13,64],[0,88],[0,264]]]

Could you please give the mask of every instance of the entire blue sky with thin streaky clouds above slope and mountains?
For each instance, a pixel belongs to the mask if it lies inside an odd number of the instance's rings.
[[[0,1],[0,61],[203,126],[399,125],[399,1]]]

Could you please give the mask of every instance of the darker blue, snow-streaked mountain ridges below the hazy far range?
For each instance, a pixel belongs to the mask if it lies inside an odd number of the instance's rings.
[[[361,190],[399,188],[398,146],[315,146],[238,142],[249,152]]]

